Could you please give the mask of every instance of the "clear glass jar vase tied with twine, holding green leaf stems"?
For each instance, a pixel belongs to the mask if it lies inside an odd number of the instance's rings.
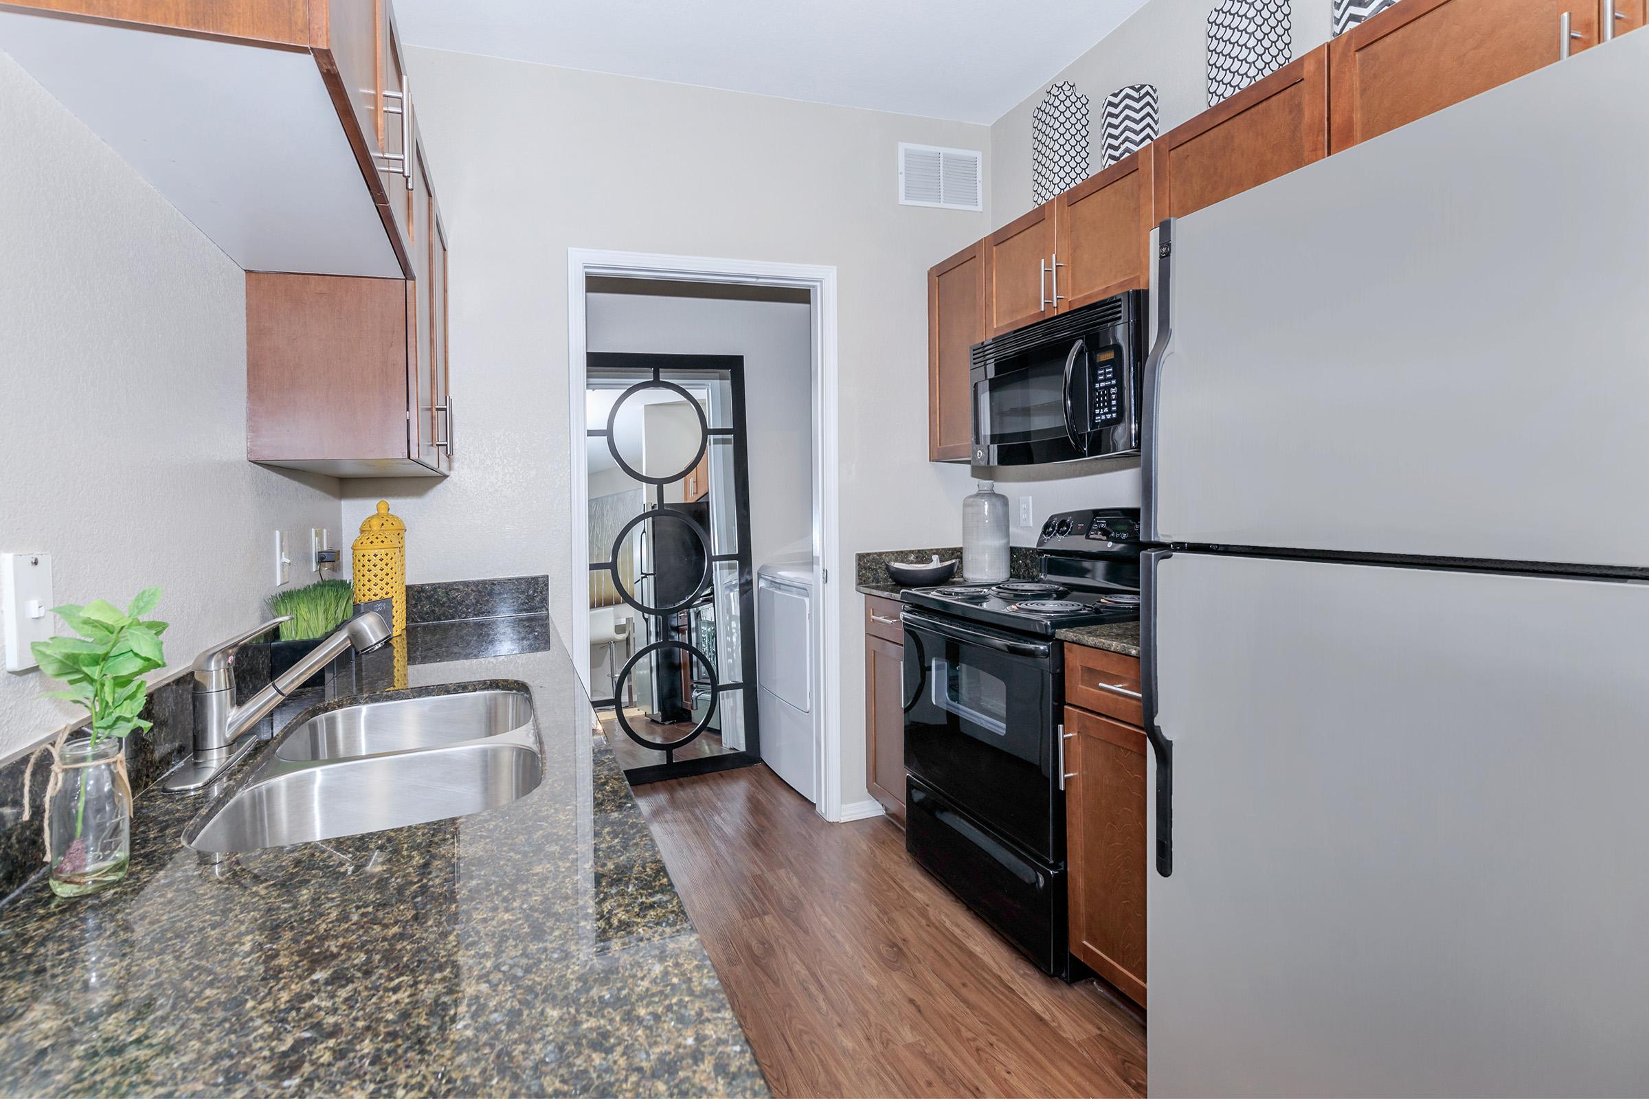
[[[51,891],[82,896],[125,877],[132,853],[132,786],[125,741],[64,741],[46,791]]]

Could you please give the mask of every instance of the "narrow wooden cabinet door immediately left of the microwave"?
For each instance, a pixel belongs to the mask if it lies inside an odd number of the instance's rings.
[[[928,461],[973,453],[968,356],[984,339],[984,241],[928,269]]]

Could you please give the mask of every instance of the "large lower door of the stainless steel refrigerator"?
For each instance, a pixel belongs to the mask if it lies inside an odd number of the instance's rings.
[[[1154,603],[1154,1097],[1649,1091],[1649,587],[1176,552]]]

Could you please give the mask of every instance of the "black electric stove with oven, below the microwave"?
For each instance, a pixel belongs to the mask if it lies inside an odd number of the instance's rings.
[[[1139,618],[1139,512],[1072,511],[1037,577],[904,601],[905,849],[1042,970],[1065,942],[1065,666],[1054,631]]]

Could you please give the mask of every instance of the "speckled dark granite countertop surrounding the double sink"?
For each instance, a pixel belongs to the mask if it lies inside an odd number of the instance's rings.
[[[125,882],[0,908],[0,1094],[767,1094],[546,616],[404,651],[414,690],[528,684],[543,784],[228,857],[180,844],[211,793],[145,791]],[[392,656],[333,694],[391,685]]]

